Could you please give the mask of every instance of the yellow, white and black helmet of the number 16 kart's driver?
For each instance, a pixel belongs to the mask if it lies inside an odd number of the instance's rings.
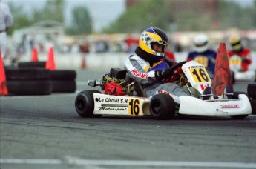
[[[161,52],[153,50],[154,43],[163,46]],[[144,30],[140,36],[139,47],[149,53],[154,59],[160,60],[165,55],[165,50],[168,45],[168,37],[163,30],[157,27],[149,27]]]

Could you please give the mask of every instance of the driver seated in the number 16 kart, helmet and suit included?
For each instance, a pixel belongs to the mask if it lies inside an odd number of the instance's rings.
[[[142,84],[146,96],[166,93],[179,104],[179,96],[189,94],[177,84],[163,82],[163,79],[174,73],[168,63],[161,60],[167,45],[168,37],[165,32],[158,27],[149,27],[142,32],[135,55],[125,62],[125,70],[131,78]]]

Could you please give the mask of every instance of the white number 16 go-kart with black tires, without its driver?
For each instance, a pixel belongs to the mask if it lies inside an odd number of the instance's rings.
[[[142,86],[131,79],[125,70],[112,68],[100,80],[89,80],[91,87],[99,90],[84,90],[76,96],[76,112],[82,117],[102,115],[154,116],[155,119],[171,119],[177,115],[232,116],[245,118],[252,113],[249,96],[243,92],[223,94],[203,100],[203,90],[211,86],[211,79],[202,64],[180,62],[171,67],[174,74],[164,82],[173,82],[184,87],[190,96],[180,96],[180,103],[165,93],[147,97]],[[252,87],[254,89],[254,87]],[[228,99],[232,97],[232,99]]]

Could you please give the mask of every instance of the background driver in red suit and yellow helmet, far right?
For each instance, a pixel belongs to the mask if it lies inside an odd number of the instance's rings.
[[[237,55],[242,59],[242,70],[247,71],[249,64],[252,63],[251,50],[246,47],[243,47],[240,36],[231,36],[229,39],[229,44],[232,47],[232,50],[228,51],[229,58]]]

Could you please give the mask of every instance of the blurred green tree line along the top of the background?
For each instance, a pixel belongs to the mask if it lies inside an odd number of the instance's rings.
[[[64,23],[65,5],[65,0],[47,0],[42,9],[33,9],[31,13],[27,13],[23,6],[9,4],[15,24],[8,34],[47,19]],[[74,7],[71,16],[70,25],[64,24],[66,34],[93,33],[93,19],[87,7]],[[211,13],[184,11],[174,17],[169,0],[147,0],[125,10],[116,21],[103,27],[100,33],[140,33],[145,27],[153,26],[170,31],[226,30],[232,27],[255,30],[255,18],[256,0],[249,7],[240,7],[234,1],[219,0],[217,23],[212,20]]]

